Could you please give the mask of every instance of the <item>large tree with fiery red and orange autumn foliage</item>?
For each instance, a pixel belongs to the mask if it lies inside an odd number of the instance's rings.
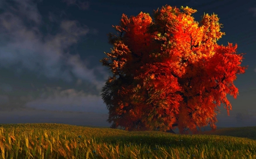
[[[108,58],[110,76],[102,89],[112,128],[198,132],[210,124],[216,130],[217,106],[232,110],[226,94],[237,97],[236,74],[245,73],[242,55],[235,46],[218,45],[225,35],[216,14],[204,14],[200,22],[189,7],[164,6],[154,10],[154,20],[141,12],[109,33],[113,45]],[[201,129],[200,129],[201,130]]]

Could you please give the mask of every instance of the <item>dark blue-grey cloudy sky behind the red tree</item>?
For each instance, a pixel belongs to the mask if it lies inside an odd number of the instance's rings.
[[[234,84],[239,96],[227,95],[217,127],[256,126],[256,1],[0,1],[0,123],[64,123],[109,127],[101,89],[112,75],[102,66],[122,14],[129,18],[164,5],[192,7],[200,21],[204,12],[218,15],[226,35],[218,44],[238,45],[243,55]]]

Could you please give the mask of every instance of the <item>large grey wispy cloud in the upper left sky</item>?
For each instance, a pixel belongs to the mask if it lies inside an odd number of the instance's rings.
[[[48,24],[42,20],[33,1],[15,0],[15,7],[7,2],[2,2],[4,9],[0,15],[0,38],[3,41],[0,44],[0,67],[13,68],[18,75],[29,70],[38,78],[46,76],[67,82],[72,82],[75,75],[75,78],[98,84],[97,88],[102,86],[102,81],[96,79],[94,68],[89,69],[79,54],[69,51],[69,47],[76,45],[82,37],[97,34],[97,29],[65,19],[64,11],[61,15],[49,12]],[[58,29],[53,31],[53,25]],[[47,28],[46,33],[39,29],[43,27]]]

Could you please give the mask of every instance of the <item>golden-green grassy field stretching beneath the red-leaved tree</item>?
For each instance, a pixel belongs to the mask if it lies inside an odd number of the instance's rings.
[[[68,124],[0,124],[0,158],[256,158],[256,127],[210,135]]]

